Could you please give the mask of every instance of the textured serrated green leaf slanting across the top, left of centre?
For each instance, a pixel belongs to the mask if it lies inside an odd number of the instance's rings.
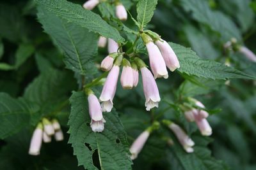
[[[84,10],[81,5],[70,3],[66,0],[36,0],[39,8],[44,13],[51,11],[54,15],[71,22],[81,25],[89,31],[97,32],[100,35],[122,42],[124,38],[119,32],[102,20],[99,15],[89,10]]]

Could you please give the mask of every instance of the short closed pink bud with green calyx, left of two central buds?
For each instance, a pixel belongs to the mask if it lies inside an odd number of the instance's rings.
[[[133,87],[133,71],[129,60],[123,59],[123,70],[121,74],[121,85],[124,89],[132,89]]]

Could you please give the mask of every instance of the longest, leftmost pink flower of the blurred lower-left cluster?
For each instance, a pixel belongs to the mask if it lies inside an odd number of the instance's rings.
[[[33,136],[30,141],[29,155],[40,155],[40,149],[43,139],[43,125],[39,123],[33,132]]]

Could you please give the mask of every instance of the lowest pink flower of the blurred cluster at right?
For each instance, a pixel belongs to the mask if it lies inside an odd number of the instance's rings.
[[[206,118],[202,118],[202,116],[199,114],[199,112],[200,111],[193,112],[196,125],[203,136],[211,136],[212,128],[209,125],[209,123],[207,122]]]

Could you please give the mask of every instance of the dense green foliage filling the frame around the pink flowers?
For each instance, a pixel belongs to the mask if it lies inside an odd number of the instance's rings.
[[[83,3],[1,1],[0,169],[256,169],[256,1],[106,0],[93,10]],[[116,17],[120,3],[125,21]],[[131,90],[118,79],[104,130],[93,132],[87,97],[100,97],[109,73],[100,70],[109,54],[98,47],[100,36],[120,46],[120,75],[131,62],[140,78]],[[155,43],[161,36],[180,64],[168,79],[156,79],[161,101],[150,111],[143,61],[155,77],[156,70],[145,36]],[[188,121],[184,112],[192,108],[209,113],[212,135]],[[55,140],[44,139],[40,155],[29,155],[33,131],[44,125],[47,136],[45,125],[54,121],[61,125]],[[193,150],[175,136],[174,123]],[[150,136],[134,159],[129,148],[142,132]]]

